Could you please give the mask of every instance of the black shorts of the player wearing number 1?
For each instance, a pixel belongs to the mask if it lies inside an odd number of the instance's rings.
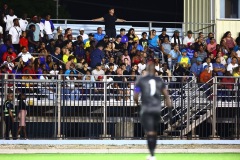
[[[156,132],[160,122],[160,112],[143,112],[141,123],[145,132]]]

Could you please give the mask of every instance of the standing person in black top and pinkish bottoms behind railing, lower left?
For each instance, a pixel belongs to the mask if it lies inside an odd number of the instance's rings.
[[[27,131],[26,131],[26,116],[27,116],[27,105],[25,103],[26,101],[26,95],[20,94],[18,101],[18,119],[19,119],[19,126],[18,126],[18,132],[17,136],[20,135],[21,130],[23,130],[24,139],[27,139]]]

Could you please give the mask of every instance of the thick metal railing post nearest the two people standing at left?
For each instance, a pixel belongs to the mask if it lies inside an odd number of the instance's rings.
[[[57,116],[58,116],[58,130],[57,137],[61,138],[61,75],[58,75],[57,79]],[[55,106],[55,107],[56,107]]]

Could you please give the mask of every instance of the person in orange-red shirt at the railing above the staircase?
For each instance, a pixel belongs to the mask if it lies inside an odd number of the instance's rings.
[[[210,95],[210,83],[208,82],[212,78],[212,71],[210,71],[209,66],[204,66],[204,70],[200,73],[200,83],[203,85],[203,91],[206,96]],[[208,82],[208,83],[207,83]]]

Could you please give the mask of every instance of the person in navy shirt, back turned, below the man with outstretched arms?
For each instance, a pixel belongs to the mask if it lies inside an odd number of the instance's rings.
[[[99,45],[91,54],[91,68],[95,68],[97,63],[102,62],[102,59],[104,58],[103,53],[103,46]]]

